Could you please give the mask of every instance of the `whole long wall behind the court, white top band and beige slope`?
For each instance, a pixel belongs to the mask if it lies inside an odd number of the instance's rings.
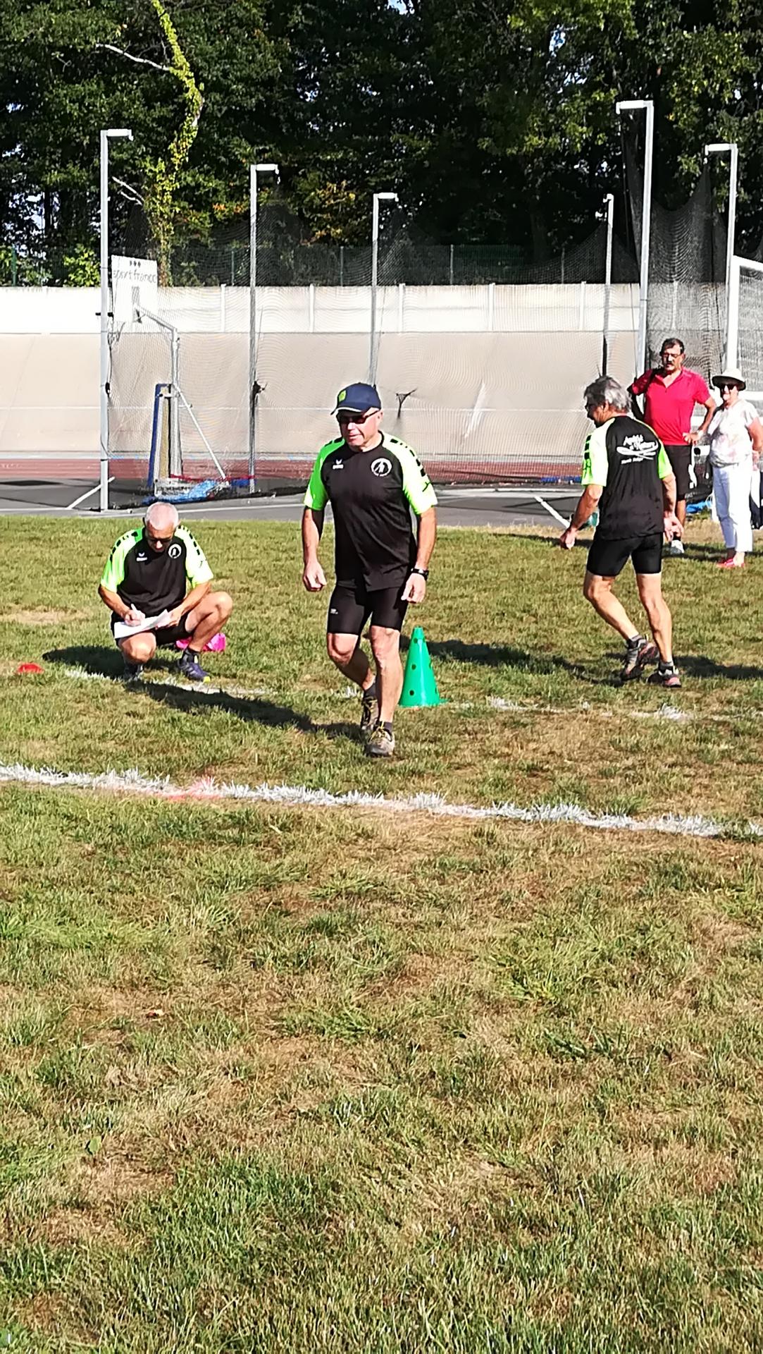
[[[97,309],[92,288],[3,288],[0,452],[97,452]],[[660,309],[675,315],[691,364],[713,309],[708,288],[666,284]],[[229,478],[244,478],[249,290],[160,288],[160,314],[180,332],[180,380],[199,428]],[[331,435],[336,391],[367,374],[368,315],[363,287],[258,288],[262,487],[304,481]],[[601,370],[602,284],[400,284],[380,288],[377,318],[386,425],[419,451],[433,478],[551,479],[578,471],[587,427],[580,395]],[[614,284],[609,368],[624,382],[633,375],[636,324],[637,287]],[[156,386],[170,376],[169,344],[149,322],[124,325],[112,336],[111,355],[112,474],[139,483],[147,475]],[[184,473],[206,478],[210,456],[191,421],[183,452]]]

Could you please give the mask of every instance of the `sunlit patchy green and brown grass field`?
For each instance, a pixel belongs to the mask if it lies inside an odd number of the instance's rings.
[[[118,532],[3,524],[5,765],[722,831],[1,787],[0,1347],[756,1354],[758,563],[694,527],[685,686],[621,689],[583,551],[442,532],[415,620],[446,704],[379,765],[294,528],[199,527],[222,692],[104,680]]]

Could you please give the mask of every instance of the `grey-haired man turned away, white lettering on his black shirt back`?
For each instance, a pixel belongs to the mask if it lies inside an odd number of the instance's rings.
[[[595,427],[583,451],[583,493],[559,544],[572,550],[578,531],[598,509],[583,596],[625,640],[621,680],[640,677],[659,654],[649,681],[680,686],[672,661],[672,617],[662,590],[663,535],[672,540],[682,532],[675,515],[675,475],[657,435],[629,413],[628,393],[617,380],[599,376],[583,398]],[[637,631],[613,593],[614,580],[629,559],[653,642]]]

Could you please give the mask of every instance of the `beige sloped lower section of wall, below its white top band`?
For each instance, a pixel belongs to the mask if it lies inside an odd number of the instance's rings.
[[[157,333],[123,333],[111,357],[110,445],[145,455],[154,386],[169,380],[169,345]],[[580,395],[599,362],[597,333],[394,333],[380,340],[377,379],[387,427],[411,440],[433,470],[437,462],[507,455],[553,464],[579,452]],[[181,338],[181,389],[226,458],[246,454],[248,363],[245,333]],[[264,338],[260,454],[308,459],[331,433],[336,391],[363,379],[367,363],[364,333]],[[629,380],[632,363],[632,334],[614,336],[610,371]],[[0,454],[96,452],[97,391],[97,334],[0,334]],[[200,452],[185,416],[183,427],[184,445]]]

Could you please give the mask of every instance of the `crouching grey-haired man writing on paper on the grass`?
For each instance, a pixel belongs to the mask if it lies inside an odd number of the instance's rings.
[[[210,592],[212,570],[200,546],[180,527],[172,504],[152,504],[142,527],[120,536],[106,562],[99,597],[111,611],[111,631],[135,681],[157,647],[187,640],[180,674],[203,682],[199,654],[233,611],[227,593]]]

